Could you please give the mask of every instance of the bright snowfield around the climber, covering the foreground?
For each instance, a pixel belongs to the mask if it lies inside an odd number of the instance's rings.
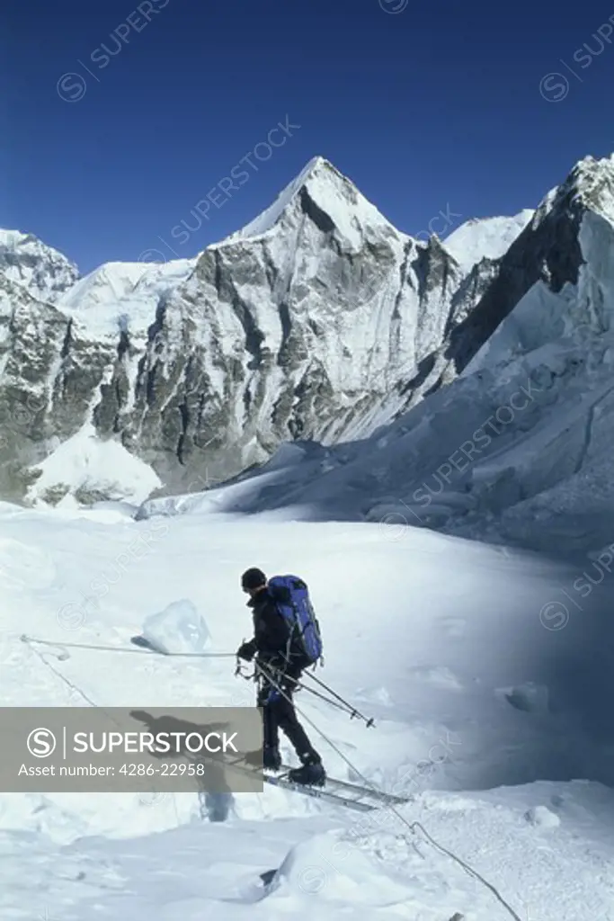
[[[219,515],[214,495],[141,521],[125,507],[0,507],[3,704],[251,705],[233,659],[156,658],[129,639],[188,598],[213,651],[233,651],[249,633],[243,568],[298,571],[324,631],[322,678],[376,719],[366,729],[302,692],[307,729],[331,775],[403,790],[402,816],[422,827],[269,787],[237,795],[223,823],[188,794],[2,794],[3,921],[509,918],[424,831],[522,921],[611,921],[612,736],[588,717],[609,710],[614,670],[596,669],[597,611],[555,630],[544,607],[573,573],[423,530]]]

